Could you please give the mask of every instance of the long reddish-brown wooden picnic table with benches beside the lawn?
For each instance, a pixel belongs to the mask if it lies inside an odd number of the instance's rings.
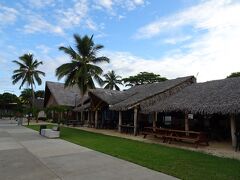
[[[195,144],[196,148],[201,143],[208,145],[207,134],[204,132],[145,127],[142,134],[144,135],[143,138],[146,138],[147,135],[160,137],[163,139],[163,142],[168,142],[169,144],[172,141],[185,141]]]

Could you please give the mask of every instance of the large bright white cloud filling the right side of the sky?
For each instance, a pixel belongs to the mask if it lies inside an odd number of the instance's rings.
[[[199,73],[199,81],[221,79],[231,72],[240,71],[239,1],[204,1],[140,28],[135,37],[156,39],[155,36],[161,33],[167,35],[167,31],[180,29],[184,32],[185,26],[190,26],[197,36],[186,34],[186,37],[194,37],[184,46],[179,46],[178,51],[160,59],[140,58],[140,63],[136,60],[129,66],[152,69],[170,78]],[[167,42],[174,44],[175,40],[168,39]]]

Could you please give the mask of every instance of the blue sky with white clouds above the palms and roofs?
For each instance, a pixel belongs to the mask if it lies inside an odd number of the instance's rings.
[[[72,35],[94,34],[108,56],[105,72],[122,77],[151,71],[199,82],[240,71],[239,0],[1,0],[0,93],[19,94],[12,71],[24,53],[44,62],[46,80],[69,58],[58,50]]]

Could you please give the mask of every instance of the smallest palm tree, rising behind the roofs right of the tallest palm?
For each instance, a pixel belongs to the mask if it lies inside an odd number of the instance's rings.
[[[115,71],[109,71],[107,74],[103,75],[105,80],[103,81],[105,85],[104,89],[116,89],[120,90],[118,84],[122,85],[121,76],[116,75]]]

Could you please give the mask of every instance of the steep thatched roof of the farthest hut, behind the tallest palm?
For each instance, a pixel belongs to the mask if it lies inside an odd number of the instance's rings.
[[[46,82],[44,106],[52,95],[57,105],[63,106],[75,106],[80,102],[80,90],[77,86],[64,87],[63,83],[58,82]]]

